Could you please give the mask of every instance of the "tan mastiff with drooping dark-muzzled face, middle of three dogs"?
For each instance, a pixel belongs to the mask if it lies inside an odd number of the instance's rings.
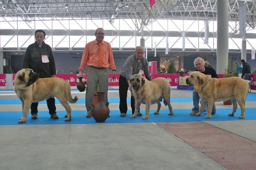
[[[150,105],[157,103],[157,111],[154,114],[159,114],[161,108],[160,101],[163,99],[163,103],[168,105],[169,115],[173,115],[172,105],[170,103],[171,85],[167,79],[158,77],[151,81],[145,79],[140,74],[134,74],[131,77],[132,95],[135,99],[135,111],[130,118],[135,118],[138,114],[140,104],[146,104],[146,114],[142,119],[148,119]]]

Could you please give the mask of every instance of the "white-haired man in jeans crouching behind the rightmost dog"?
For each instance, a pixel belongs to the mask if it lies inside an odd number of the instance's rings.
[[[216,71],[213,68],[205,67],[204,64],[205,64],[204,59],[202,59],[201,57],[196,58],[194,61],[194,65],[196,68],[195,71],[200,71],[203,74],[211,75],[211,78],[218,78]],[[199,112],[199,99],[200,99],[200,97],[199,97],[198,92],[196,92],[194,90],[193,91],[194,107],[192,108],[192,112],[189,114],[190,116],[195,116],[195,114]],[[205,108],[205,110],[207,110],[207,108]],[[215,114],[215,113],[216,113],[216,106],[215,106],[215,102],[214,102],[213,106],[212,106],[212,114]]]

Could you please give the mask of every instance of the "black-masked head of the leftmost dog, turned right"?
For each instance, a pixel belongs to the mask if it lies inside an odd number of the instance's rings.
[[[14,79],[15,85],[29,86],[39,79],[39,74],[35,73],[32,69],[24,68],[17,72]]]

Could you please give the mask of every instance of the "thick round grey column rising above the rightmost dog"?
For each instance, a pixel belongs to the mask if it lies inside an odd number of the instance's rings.
[[[217,74],[224,74],[228,62],[228,1],[217,0]]]

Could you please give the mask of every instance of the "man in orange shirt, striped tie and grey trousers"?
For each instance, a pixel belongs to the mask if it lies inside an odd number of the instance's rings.
[[[105,31],[103,28],[97,28],[95,31],[96,40],[88,42],[85,45],[82,54],[81,64],[79,67],[80,76],[84,77],[83,71],[85,65],[87,68],[87,89],[85,94],[85,107],[87,109],[86,117],[92,117],[91,109],[93,103],[93,96],[96,89],[97,82],[99,81],[99,91],[105,91],[104,102],[108,102],[108,69],[112,70],[113,78],[116,77],[116,65],[112,53],[111,45],[103,41]],[[108,68],[109,67],[109,68]]]

